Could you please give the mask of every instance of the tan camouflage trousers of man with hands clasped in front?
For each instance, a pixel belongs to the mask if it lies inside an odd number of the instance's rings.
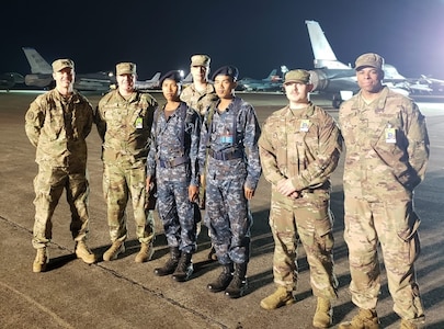
[[[300,241],[310,269],[315,296],[337,298],[333,272],[332,215],[328,194],[304,194],[295,201],[273,191],[270,227],[274,238],[273,275],[276,285],[297,288],[297,245]]]

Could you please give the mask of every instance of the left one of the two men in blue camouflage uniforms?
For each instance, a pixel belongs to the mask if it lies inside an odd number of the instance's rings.
[[[172,274],[178,282],[193,273],[196,250],[195,202],[198,196],[197,151],[201,116],[180,100],[181,76],[170,71],[160,79],[167,103],[155,113],[147,163],[147,186],[156,179],[157,208],[170,248],[170,258],[155,274]]]

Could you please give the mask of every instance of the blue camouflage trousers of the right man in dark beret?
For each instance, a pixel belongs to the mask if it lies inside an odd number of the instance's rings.
[[[243,193],[244,178],[207,178],[205,225],[220,264],[250,261],[250,228],[253,223]]]

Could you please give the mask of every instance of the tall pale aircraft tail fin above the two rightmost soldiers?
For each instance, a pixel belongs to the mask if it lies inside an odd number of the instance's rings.
[[[348,65],[338,60],[319,23],[316,21],[305,21],[305,23],[307,24],[311,49],[315,56],[315,68],[350,68]]]

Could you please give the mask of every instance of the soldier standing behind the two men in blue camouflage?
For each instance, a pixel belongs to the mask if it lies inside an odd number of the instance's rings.
[[[207,55],[193,55],[191,56],[190,70],[193,76],[193,83],[186,87],[181,93],[181,100],[184,101],[190,107],[196,110],[202,116],[205,115],[207,109],[217,101],[214,84],[208,81],[210,58]],[[205,185],[202,182],[200,207],[205,208]],[[202,213],[196,213],[197,236],[201,231]],[[208,231],[209,235],[209,231]],[[210,248],[208,259],[217,260],[214,247]]]

